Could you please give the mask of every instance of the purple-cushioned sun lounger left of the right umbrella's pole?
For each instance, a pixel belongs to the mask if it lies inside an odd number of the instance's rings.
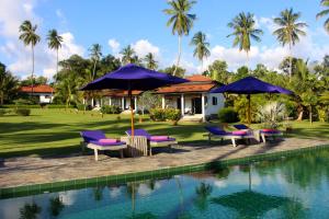
[[[230,139],[234,147],[237,147],[237,139],[246,139],[247,141],[249,141],[251,138],[253,138],[253,135],[250,135],[248,131],[228,132],[216,126],[206,126],[205,129],[208,131],[207,136],[209,141],[212,140],[212,138],[220,138],[222,140]]]

